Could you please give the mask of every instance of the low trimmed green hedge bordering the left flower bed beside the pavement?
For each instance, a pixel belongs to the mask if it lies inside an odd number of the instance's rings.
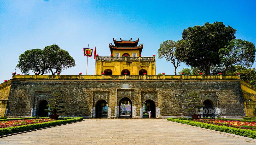
[[[31,117],[28,117],[28,118],[31,118]],[[34,117],[33,117],[33,119],[34,119]],[[51,121],[51,122],[43,122],[43,123],[21,125],[21,126],[14,126],[14,127],[8,127],[8,128],[0,128],[0,135],[23,132],[23,131],[33,130],[33,129],[39,129],[39,128],[44,128],[44,127],[49,127],[49,126],[55,126],[55,125],[60,125],[60,124],[65,124],[65,123],[70,123],[70,122],[81,121],[81,120],[83,120],[82,117],[74,117],[74,118],[70,118],[70,119],[65,118],[65,120],[56,120],[56,121]]]

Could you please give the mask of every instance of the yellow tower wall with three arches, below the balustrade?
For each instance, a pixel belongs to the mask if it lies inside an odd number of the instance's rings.
[[[155,75],[155,66],[155,61],[96,61],[95,75],[101,75],[106,69],[111,69],[113,75],[121,75],[124,69],[128,69],[130,75],[138,75],[141,69],[147,70],[148,75]]]

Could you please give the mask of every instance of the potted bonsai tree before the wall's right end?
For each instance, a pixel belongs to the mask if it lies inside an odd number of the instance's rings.
[[[196,114],[196,112],[200,111],[200,108],[204,107],[201,104],[201,97],[196,92],[191,92],[188,95],[189,99],[187,99],[187,106],[189,107],[186,109],[187,112],[192,112],[193,119],[200,119],[201,114]]]

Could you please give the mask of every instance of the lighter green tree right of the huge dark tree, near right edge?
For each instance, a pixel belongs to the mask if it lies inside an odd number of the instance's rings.
[[[250,68],[255,62],[255,46],[253,43],[241,39],[233,39],[227,47],[219,50],[223,74],[231,65],[242,65]]]

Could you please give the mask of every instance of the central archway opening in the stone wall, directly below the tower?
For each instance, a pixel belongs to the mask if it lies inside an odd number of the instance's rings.
[[[119,102],[119,117],[132,117],[132,101],[129,98],[122,98]]]

